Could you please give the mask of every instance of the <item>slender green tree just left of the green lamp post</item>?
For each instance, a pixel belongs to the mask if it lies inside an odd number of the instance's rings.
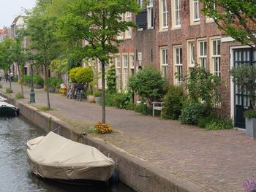
[[[26,62],[26,48],[22,46],[22,42],[23,42],[23,32],[20,30],[16,32],[15,41],[12,42],[12,46],[10,49],[11,51],[10,58],[18,66],[18,77],[20,80],[21,94],[24,97],[23,78],[21,78],[21,75],[20,75],[21,74],[20,66],[24,66]]]

